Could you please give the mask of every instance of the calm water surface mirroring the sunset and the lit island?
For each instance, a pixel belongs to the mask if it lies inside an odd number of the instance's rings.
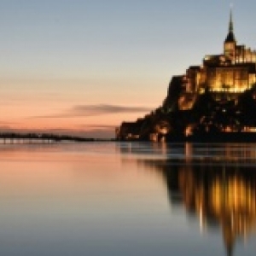
[[[255,255],[256,145],[0,144],[0,255]]]

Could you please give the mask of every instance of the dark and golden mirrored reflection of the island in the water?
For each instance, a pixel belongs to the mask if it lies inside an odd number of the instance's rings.
[[[138,165],[159,172],[172,207],[183,205],[201,230],[220,227],[227,255],[256,230],[256,154],[253,144],[130,144]],[[147,154],[146,154],[147,153]]]

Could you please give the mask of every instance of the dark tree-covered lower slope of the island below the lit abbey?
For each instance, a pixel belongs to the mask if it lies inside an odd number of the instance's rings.
[[[181,81],[173,79],[162,106],[143,119],[137,119],[135,123],[131,123],[132,126],[123,123],[119,139],[127,139],[127,134],[131,134],[128,139],[134,139],[132,135],[136,134],[136,139],[148,140],[150,134],[154,133],[158,139],[164,136],[169,141],[189,138],[207,140],[211,137],[212,140],[223,140],[223,135],[227,137],[229,133],[228,137],[232,140],[232,137],[237,137],[237,133],[242,133],[241,137],[245,137],[247,132],[251,133],[248,140],[256,138],[256,133],[252,133],[256,128],[256,84],[236,97],[230,97],[228,93],[216,97],[206,89],[196,96],[192,108],[180,110],[178,101],[182,93]],[[125,132],[123,128],[126,128]]]

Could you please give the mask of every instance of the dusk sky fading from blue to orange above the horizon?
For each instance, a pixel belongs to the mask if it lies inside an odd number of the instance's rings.
[[[256,49],[256,2],[232,4]],[[0,0],[0,131],[114,137],[222,52],[229,15],[226,0]]]

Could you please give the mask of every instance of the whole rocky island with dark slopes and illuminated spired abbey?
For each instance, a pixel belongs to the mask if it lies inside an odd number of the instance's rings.
[[[256,51],[236,43],[232,11],[223,53],[173,76],[160,108],[123,122],[116,138],[256,142]]]

